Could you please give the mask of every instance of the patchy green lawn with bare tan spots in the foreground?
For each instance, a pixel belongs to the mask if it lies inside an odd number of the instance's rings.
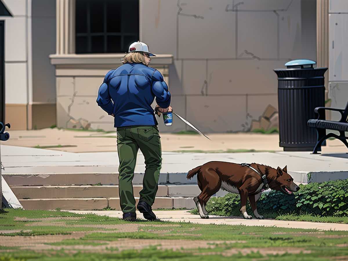
[[[0,260],[347,260],[347,231],[0,212]]]

